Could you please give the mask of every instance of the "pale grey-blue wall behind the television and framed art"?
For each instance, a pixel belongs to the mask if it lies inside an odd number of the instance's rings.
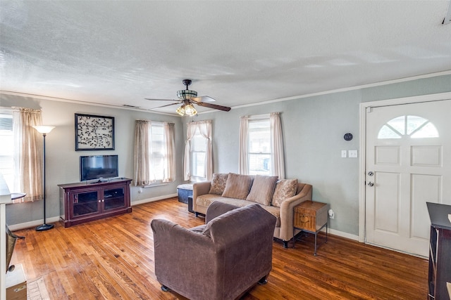
[[[182,159],[185,144],[180,117],[6,94],[0,94],[0,106],[41,108],[42,123],[56,126],[46,137],[47,218],[59,216],[59,190],[57,185],[80,181],[79,157],[81,155],[118,155],[119,176],[133,178],[135,119],[175,123],[177,180],[168,185],[144,188],[142,193],[138,193],[139,188],[131,186],[132,202],[177,193],[177,185],[183,183]],[[75,151],[75,113],[114,117],[115,150]],[[6,206],[6,223],[11,226],[35,221],[42,219],[43,214],[42,202],[8,204]]]

